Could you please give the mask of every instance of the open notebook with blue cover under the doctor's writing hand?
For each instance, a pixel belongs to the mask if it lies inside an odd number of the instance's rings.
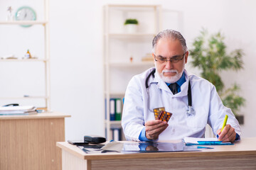
[[[213,138],[184,137],[183,141],[186,143],[186,145],[234,145],[231,142],[219,141],[217,137],[213,137]]]

